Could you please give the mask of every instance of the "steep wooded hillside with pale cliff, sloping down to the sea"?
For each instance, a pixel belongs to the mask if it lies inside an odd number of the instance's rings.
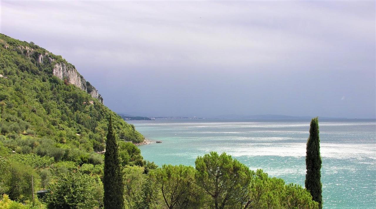
[[[23,133],[101,151],[112,116],[120,139],[143,141],[134,126],[102,103],[96,88],[61,56],[0,34],[0,131],[5,139]]]

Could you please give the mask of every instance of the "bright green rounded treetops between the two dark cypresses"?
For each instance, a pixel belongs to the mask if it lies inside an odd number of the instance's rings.
[[[197,157],[196,169],[164,165],[145,176],[137,167],[127,167],[124,178],[129,182],[126,208],[318,208],[301,186],[250,171],[226,153]]]

